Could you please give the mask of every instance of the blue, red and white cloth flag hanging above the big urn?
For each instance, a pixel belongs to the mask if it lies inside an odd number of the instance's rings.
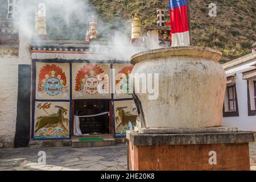
[[[172,47],[189,46],[187,0],[170,0],[170,24]]]

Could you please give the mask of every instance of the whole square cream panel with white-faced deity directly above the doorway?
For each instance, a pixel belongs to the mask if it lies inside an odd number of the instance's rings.
[[[73,99],[111,98],[109,64],[72,64]]]

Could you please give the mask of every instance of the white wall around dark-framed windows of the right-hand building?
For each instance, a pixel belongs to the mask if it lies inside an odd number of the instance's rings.
[[[256,60],[254,60],[256,63]],[[243,64],[240,67],[229,69],[226,71],[227,75],[236,73],[236,89],[237,89],[237,102],[239,117],[224,117],[222,118],[223,126],[238,127],[238,130],[242,131],[256,131],[256,116],[248,116],[247,109],[247,80],[242,79],[242,72],[246,72],[255,67],[250,67],[253,63],[246,65]]]

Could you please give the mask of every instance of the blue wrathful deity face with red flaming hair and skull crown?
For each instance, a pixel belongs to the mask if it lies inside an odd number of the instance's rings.
[[[55,64],[44,65],[38,75],[38,96],[58,96],[69,98],[67,78],[63,69]]]

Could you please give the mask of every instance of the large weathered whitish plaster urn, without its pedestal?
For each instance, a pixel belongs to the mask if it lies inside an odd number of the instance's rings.
[[[133,74],[159,73],[159,97],[156,100],[148,100],[147,94],[137,94],[142,102],[146,127],[221,126],[226,76],[222,66],[210,59],[218,53],[212,56],[210,53],[213,52],[202,53],[198,51],[201,48],[191,49],[193,53],[189,56],[183,56],[191,51],[187,49],[181,50],[180,56],[166,56],[156,49],[160,56],[142,53],[135,57],[137,64]],[[156,58],[151,59],[151,56]],[[131,62],[134,63],[133,60]],[[134,86],[136,90],[138,85]]]

